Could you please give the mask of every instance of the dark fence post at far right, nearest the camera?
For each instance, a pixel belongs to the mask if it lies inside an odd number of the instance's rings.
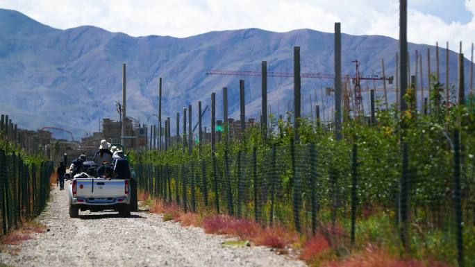
[[[463,221],[462,221],[462,188],[460,185],[460,132],[458,128],[453,131],[453,208],[456,213],[456,241],[457,262],[459,267],[464,266],[463,251]]]

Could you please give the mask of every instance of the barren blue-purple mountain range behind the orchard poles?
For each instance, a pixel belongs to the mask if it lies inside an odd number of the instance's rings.
[[[240,78],[245,80],[247,117],[258,117],[260,77],[207,76],[206,71],[260,71],[261,61],[267,60],[268,71],[292,72],[293,47],[301,46],[302,73],[333,74],[333,43],[333,33],[310,29],[275,33],[248,28],[185,38],[132,37],[95,26],[60,30],[15,10],[0,9],[0,112],[9,114],[21,128],[56,126],[83,137],[85,132],[97,131],[102,118],[119,119],[114,101],[122,101],[122,63],[126,63],[127,114],[140,123],[156,123],[149,115],[158,113],[159,77],[163,78],[163,116],[172,117],[172,125],[176,112],[188,104],[193,105],[196,121],[198,101],[203,101],[203,107],[210,105],[212,92],[217,93],[217,118],[221,119],[222,87],[228,87],[230,117],[238,118]],[[358,60],[363,76],[380,74],[384,58],[386,75],[394,75],[398,46],[398,40],[390,37],[343,34],[342,72],[354,74],[353,60]],[[418,50],[426,77],[427,49],[435,70],[435,46],[410,44],[412,74]],[[465,59],[467,85],[469,64]],[[440,50],[442,78],[445,66],[445,51]],[[453,51],[449,69],[451,84],[456,84],[457,54]],[[315,98],[322,105],[320,89],[332,86],[332,79],[302,78],[303,114],[310,112],[310,95],[314,105]],[[293,98],[293,79],[269,77],[268,91],[270,112],[283,114]],[[394,98],[392,92],[389,97]],[[323,100],[328,117],[331,96],[324,95]],[[205,125],[210,124],[210,113],[204,119]],[[55,136],[67,137],[60,132]]]

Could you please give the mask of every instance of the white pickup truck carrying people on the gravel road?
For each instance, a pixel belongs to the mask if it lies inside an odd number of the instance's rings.
[[[120,216],[131,215],[129,180],[102,179],[82,173],[74,175],[69,185],[69,216],[76,218],[79,210],[101,211],[113,209]]]

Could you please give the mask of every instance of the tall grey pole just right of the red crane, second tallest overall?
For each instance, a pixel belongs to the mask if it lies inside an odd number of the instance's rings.
[[[335,23],[335,137],[342,138],[342,33]]]

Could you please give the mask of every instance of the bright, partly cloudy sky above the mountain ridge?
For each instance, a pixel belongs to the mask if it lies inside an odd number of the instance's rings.
[[[475,42],[475,0],[408,0],[410,42],[442,46],[450,42],[465,56]],[[238,28],[291,31],[311,28],[353,35],[397,38],[397,0],[0,0],[0,8],[18,10],[55,28],[94,25],[128,35],[187,37]]]

